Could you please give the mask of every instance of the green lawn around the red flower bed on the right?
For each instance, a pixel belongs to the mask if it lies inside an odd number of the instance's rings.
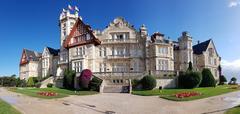
[[[215,88],[207,87],[207,88],[195,88],[195,89],[163,89],[162,91],[159,91],[158,89],[154,89],[154,90],[147,90],[147,91],[133,91],[132,94],[142,95],[142,96],[160,96],[161,98],[173,100],[173,101],[190,101],[190,100],[202,99],[206,97],[221,95],[224,93],[240,90],[239,88],[233,89],[232,87],[237,87],[237,86],[224,85],[224,86],[217,86]],[[175,97],[176,93],[191,92],[191,91],[198,92],[201,95],[188,97],[188,98]]]

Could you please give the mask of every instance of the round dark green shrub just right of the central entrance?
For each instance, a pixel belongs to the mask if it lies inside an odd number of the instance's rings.
[[[148,76],[144,76],[141,79],[141,84],[144,90],[152,90],[153,88],[156,87],[157,81],[153,76],[148,75]]]

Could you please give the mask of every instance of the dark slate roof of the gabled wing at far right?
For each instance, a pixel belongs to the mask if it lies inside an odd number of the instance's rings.
[[[210,42],[211,42],[211,39],[194,45],[193,46],[193,53],[197,54],[197,55],[202,54],[204,51],[207,50],[208,45],[210,44]]]

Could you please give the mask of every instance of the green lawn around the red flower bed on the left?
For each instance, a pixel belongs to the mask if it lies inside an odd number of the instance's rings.
[[[63,98],[69,95],[93,95],[97,94],[96,91],[72,91],[67,89],[60,89],[60,88],[10,88],[10,91],[21,93],[24,95],[28,95],[31,97],[38,97],[44,99],[53,99],[53,98]],[[55,92],[57,96],[42,96],[38,95],[38,92]]]

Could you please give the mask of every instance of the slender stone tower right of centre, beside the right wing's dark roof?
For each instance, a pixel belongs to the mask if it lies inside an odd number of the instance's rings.
[[[188,32],[182,32],[182,36],[178,38],[179,41],[179,62],[180,71],[186,71],[188,63],[193,62],[192,37]]]

